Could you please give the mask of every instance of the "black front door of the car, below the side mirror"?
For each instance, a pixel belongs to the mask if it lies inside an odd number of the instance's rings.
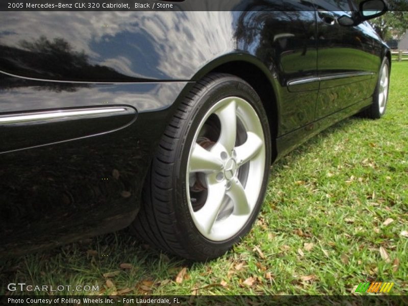
[[[350,16],[348,0],[315,0],[317,9],[320,90],[316,118],[327,116],[368,98],[378,67],[372,29],[362,23],[340,25],[337,19]]]

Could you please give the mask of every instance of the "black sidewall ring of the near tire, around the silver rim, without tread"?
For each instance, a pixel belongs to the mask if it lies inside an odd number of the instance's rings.
[[[214,81],[210,86],[207,86],[197,96],[198,99],[195,101],[196,103],[188,115],[186,123],[182,127],[182,137],[180,139],[180,145],[177,147],[176,156],[179,157],[179,159],[176,161],[174,167],[175,173],[173,175],[173,186],[176,190],[173,193],[174,198],[172,202],[175,203],[176,235],[181,239],[181,243],[190,252],[195,253],[194,257],[199,256],[203,259],[209,259],[218,257],[230,249],[232,245],[237,243],[249,232],[254,220],[256,220],[268,184],[269,167],[271,162],[271,137],[268,118],[262,102],[258,94],[243,80],[233,76],[223,77]],[[224,241],[211,241],[201,235],[196,228],[190,213],[190,203],[187,199],[188,190],[186,187],[187,162],[195,133],[202,118],[219,100],[230,96],[237,96],[248,101],[257,112],[261,121],[265,137],[266,154],[264,179],[256,206],[241,230],[230,239]]]

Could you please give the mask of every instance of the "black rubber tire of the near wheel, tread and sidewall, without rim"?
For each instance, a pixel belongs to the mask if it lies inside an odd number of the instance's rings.
[[[265,163],[262,186],[260,184],[260,192],[253,211],[248,214],[250,217],[232,237],[213,241],[200,233],[192,218],[190,209],[194,208],[188,201],[190,189],[186,186],[187,163],[193,145],[196,145],[194,135],[203,116],[217,101],[231,96],[244,99],[256,111],[264,133],[262,152],[265,152]],[[185,259],[205,261],[222,256],[250,231],[256,220],[268,184],[270,163],[269,123],[256,91],[234,75],[221,73],[208,75],[197,82],[184,98],[165,130],[145,181],[142,208],[132,224],[134,232],[150,245]],[[234,175],[238,176],[237,169]]]

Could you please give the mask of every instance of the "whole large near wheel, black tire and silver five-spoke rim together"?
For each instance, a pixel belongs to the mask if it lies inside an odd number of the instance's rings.
[[[257,218],[271,162],[268,118],[242,79],[198,82],[160,141],[133,227],[150,244],[193,260],[221,256]]]

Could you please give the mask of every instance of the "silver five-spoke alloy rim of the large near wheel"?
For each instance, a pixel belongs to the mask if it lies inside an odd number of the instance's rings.
[[[213,139],[207,137],[210,130]],[[246,100],[221,99],[205,114],[190,148],[186,180],[190,213],[202,236],[223,241],[245,226],[259,198],[265,158],[262,124]]]

